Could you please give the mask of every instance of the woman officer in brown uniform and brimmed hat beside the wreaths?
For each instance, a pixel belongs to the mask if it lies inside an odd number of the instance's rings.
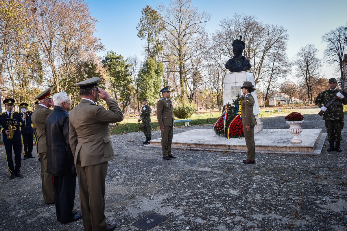
[[[243,160],[243,163],[255,162],[255,142],[254,142],[254,125],[257,124],[253,114],[254,98],[252,91],[255,88],[252,82],[246,81],[241,87],[243,96],[241,97],[241,118],[243,125],[243,132],[245,133],[245,140],[247,146],[247,160]]]

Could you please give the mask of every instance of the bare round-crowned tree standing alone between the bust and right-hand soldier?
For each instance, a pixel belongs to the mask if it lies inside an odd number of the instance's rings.
[[[300,48],[293,58],[295,65],[295,76],[303,81],[307,89],[309,103],[313,103],[312,87],[321,77],[322,61],[317,57],[318,50],[313,44],[308,44]]]

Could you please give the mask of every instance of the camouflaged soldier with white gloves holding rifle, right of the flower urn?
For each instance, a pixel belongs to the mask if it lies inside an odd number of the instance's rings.
[[[341,90],[336,88],[337,82],[335,78],[329,79],[329,89],[318,94],[314,104],[321,108],[324,112],[323,119],[325,120],[325,127],[328,131],[328,140],[330,148],[327,150],[341,152],[340,141],[341,130],[344,128],[344,112],[342,109],[342,104],[347,104],[347,94],[340,92]],[[337,96],[338,98],[326,108],[325,105],[333,98]],[[335,146],[334,146],[335,142]]]

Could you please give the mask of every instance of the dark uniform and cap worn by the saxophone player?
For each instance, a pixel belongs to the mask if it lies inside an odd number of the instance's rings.
[[[15,100],[12,98],[8,98],[3,100],[3,104],[11,105],[15,103]],[[6,124],[6,119],[10,118],[10,114],[7,115],[7,112],[3,112],[0,114],[0,120],[1,120],[1,133],[3,137],[3,143],[5,145],[5,151],[6,151],[6,161],[7,161],[7,168],[10,170],[10,174],[12,173],[18,175],[20,172],[20,166],[22,165],[22,144],[20,139],[20,131],[19,127],[24,126],[24,121],[22,119],[22,113],[20,112],[13,112],[13,119],[15,119],[18,123],[15,125],[16,130],[14,132],[13,138],[11,140],[7,139],[7,135],[5,133],[6,130],[8,130],[8,126]],[[15,164],[13,165],[12,160],[12,148],[13,152],[15,154]]]

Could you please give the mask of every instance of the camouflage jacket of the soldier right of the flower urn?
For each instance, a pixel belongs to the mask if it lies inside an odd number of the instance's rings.
[[[318,94],[316,99],[314,100],[314,104],[318,107],[325,106],[329,101],[336,96],[337,92],[341,92],[341,90],[336,89],[335,91],[332,91],[330,89],[322,91]],[[323,119],[325,120],[343,120],[344,119],[344,111],[342,109],[342,104],[347,104],[347,94],[346,92],[343,93],[345,98],[342,99],[336,99],[334,103],[330,105],[328,110],[324,112]]]

